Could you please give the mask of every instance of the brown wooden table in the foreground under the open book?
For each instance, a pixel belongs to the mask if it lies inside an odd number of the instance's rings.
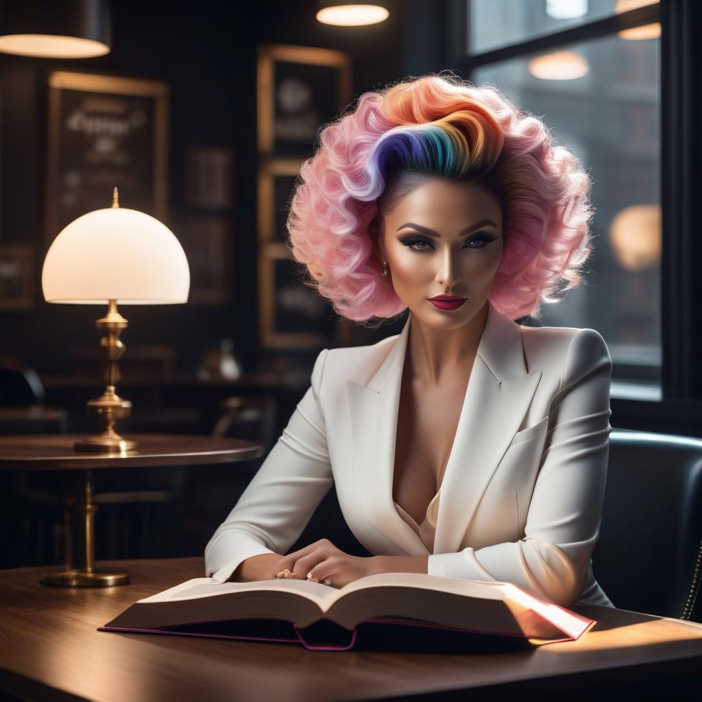
[[[496,699],[569,702],[594,691],[665,691],[699,684],[702,625],[607,607],[576,642],[475,654],[306,651],[296,644],[98,631],[136,600],[190,578],[204,559],[114,561],[131,585],[42,588],[40,569],[0,571],[0,691],[22,699],[274,701]],[[550,696],[551,695],[551,696]],[[0,694],[1,697],[1,694]],[[694,696],[685,697],[693,699]]]

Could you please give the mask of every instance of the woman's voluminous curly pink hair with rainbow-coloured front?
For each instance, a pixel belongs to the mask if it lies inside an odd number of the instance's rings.
[[[581,284],[593,215],[581,162],[497,88],[442,72],[361,95],[300,168],[288,246],[338,314],[364,322],[405,309],[380,274],[374,237],[383,193],[407,173],[495,192],[505,246],[489,299],[505,317],[537,317]]]

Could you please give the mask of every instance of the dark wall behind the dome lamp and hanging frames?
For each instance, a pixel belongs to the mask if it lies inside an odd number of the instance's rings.
[[[344,28],[319,24],[314,19],[316,3],[310,0],[241,6],[120,0],[112,3],[112,51],[105,57],[58,62],[0,54],[0,241],[34,244],[37,254],[34,310],[0,312],[0,353],[19,355],[40,374],[63,373],[68,370],[69,348],[96,344],[99,336],[94,322],[102,307],[49,305],[41,295],[49,72],[104,71],[168,81],[171,221],[183,213],[185,147],[190,143],[234,147],[237,206],[232,213],[232,303],[124,307],[121,312],[129,327],[123,340],[127,353],[130,344],[171,344],[176,347],[177,369],[192,371],[205,347],[230,336],[245,369],[253,370],[259,359],[256,46],[279,42],[347,51],[352,56],[357,97],[401,79],[406,67],[415,74],[444,67],[430,65],[432,52],[437,50],[435,39],[422,41],[421,27],[435,28],[425,23],[426,8],[418,14],[418,24],[406,22],[412,8],[422,5],[396,1],[391,4],[390,18],[380,25]],[[408,36],[413,41],[408,42]],[[409,61],[406,52],[411,54]]]

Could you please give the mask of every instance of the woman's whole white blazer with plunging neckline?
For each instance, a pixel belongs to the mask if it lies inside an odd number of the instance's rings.
[[[392,498],[410,322],[411,313],[401,333],[373,345],[319,354],[289,424],[206,545],[206,576],[224,582],[246,558],[285,554],[332,483],[371,553],[430,554]],[[489,305],[428,574],[516,583],[566,607],[613,606],[590,559],[607,477],[610,376],[597,331],[520,326]]]

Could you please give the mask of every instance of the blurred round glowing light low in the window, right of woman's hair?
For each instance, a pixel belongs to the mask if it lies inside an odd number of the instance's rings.
[[[609,243],[626,270],[646,270],[661,260],[661,206],[632,205],[609,225]]]

